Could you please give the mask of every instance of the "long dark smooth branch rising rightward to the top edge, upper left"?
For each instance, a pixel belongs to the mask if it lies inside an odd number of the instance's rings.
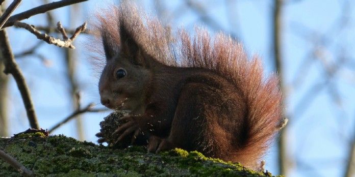
[[[11,16],[3,27],[5,28],[5,27],[12,26],[15,24],[16,21],[27,19],[27,18],[30,18],[31,16],[34,16],[37,14],[45,13],[45,12],[53,10],[53,9],[58,9],[58,8],[61,8],[64,6],[69,6],[72,4],[77,4],[77,3],[81,3],[81,2],[85,2],[85,1],[88,1],[88,0],[62,0],[59,2],[53,2],[53,3],[45,4],[42,6],[38,6],[36,8],[30,9],[28,11],[24,11],[22,13]]]

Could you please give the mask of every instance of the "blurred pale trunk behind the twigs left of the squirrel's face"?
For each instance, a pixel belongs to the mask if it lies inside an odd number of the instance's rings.
[[[80,6],[72,5],[70,7],[69,15],[69,26],[74,26],[75,22],[79,20],[80,15]],[[75,51],[72,49],[65,49],[65,64],[67,68],[67,78],[70,86],[69,96],[71,98],[72,108],[74,110],[79,109],[78,97],[76,94],[79,92],[79,83],[77,77],[75,77],[75,71],[77,70],[77,60],[78,57],[75,54]],[[75,119],[75,127],[77,130],[77,138],[81,141],[85,139],[85,133],[83,128],[82,117],[78,116]]]

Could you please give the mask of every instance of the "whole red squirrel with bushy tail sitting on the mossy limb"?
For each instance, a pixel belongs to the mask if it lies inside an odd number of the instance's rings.
[[[97,30],[106,57],[100,101],[129,111],[117,142],[146,134],[148,152],[180,147],[257,167],[281,123],[278,79],[263,78],[258,57],[199,28],[173,38],[127,3],[98,15]]]

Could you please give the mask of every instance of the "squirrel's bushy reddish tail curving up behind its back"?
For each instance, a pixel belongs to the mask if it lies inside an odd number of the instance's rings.
[[[223,34],[211,38],[205,30],[197,29],[194,38],[184,31],[180,37],[182,66],[213,70],[242,92],[247,113],[240,134],[246,137],[232,153],[232,161],[255,166],[281,123],[282,99],[276,75],[264,78],[258,56],[248,60],[242,45]]]

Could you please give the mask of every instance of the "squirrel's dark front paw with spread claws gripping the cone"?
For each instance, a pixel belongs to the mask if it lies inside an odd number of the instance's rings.
[[[119,126],[112,133],[112,135],[121,133],[115,143],[117,143],[118,141],[121,141],[124,137],[126,137],[132,133],[133,133],[133,136],[131,139],[131,144],[133,144],[135,142],[136,138],[138,137],[139,133],[141,132],[141,129],[139,128],[139,125],[138,125],[136,119],[137,119],[137,115],[125,115],[120,118],[120,121],[126,121],[126,123]]]

